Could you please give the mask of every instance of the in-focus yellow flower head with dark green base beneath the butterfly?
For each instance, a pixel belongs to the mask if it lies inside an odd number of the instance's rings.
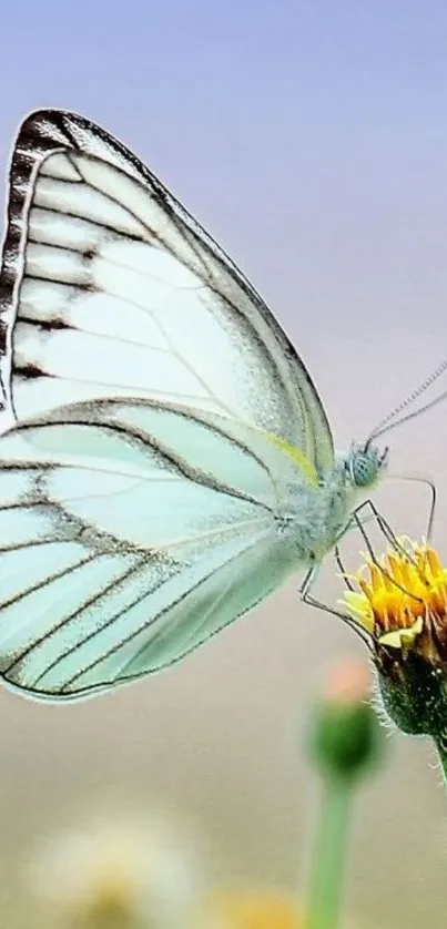
[[[398,540],[366,559],[344,606],[367,633],[387,714],[447,746],[447,569],[431,545]]]

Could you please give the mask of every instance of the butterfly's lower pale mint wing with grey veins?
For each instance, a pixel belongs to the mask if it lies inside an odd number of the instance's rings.
[[[0,439],[0,675],[73,700],[179,660],[299,561],[293,459],[154,401],[78,404]]]

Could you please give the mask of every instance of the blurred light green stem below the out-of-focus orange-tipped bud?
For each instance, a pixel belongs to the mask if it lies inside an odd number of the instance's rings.
[[[353,788],[351,778],[325,779],[307,900],[307,929],[336,929],[339,925]]]

